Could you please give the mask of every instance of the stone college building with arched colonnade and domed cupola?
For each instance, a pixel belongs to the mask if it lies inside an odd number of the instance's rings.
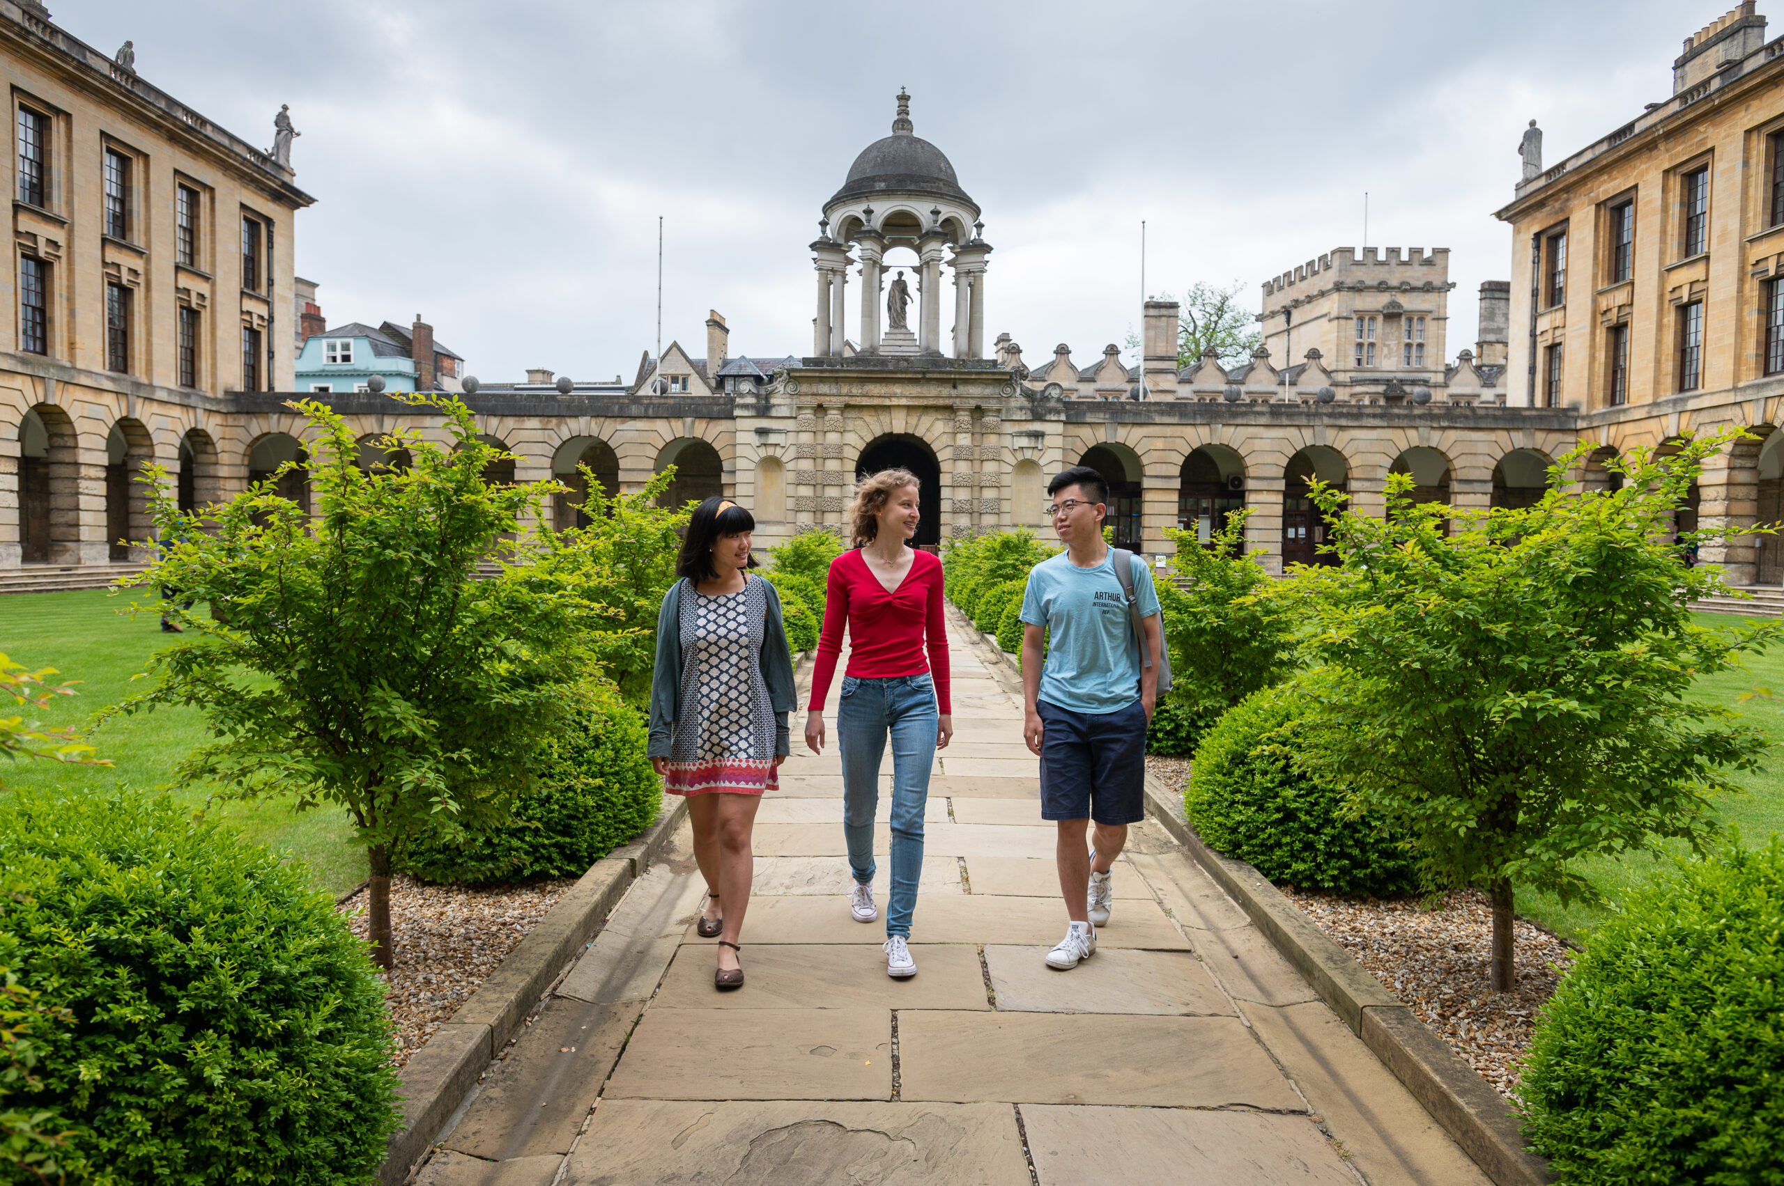
[[[1390,473],[1411,473],[1422,499],[1513,507],[1581,441],[1604,446],[1581,478],[1607,482],[1616,449],[1725,423],[1766,442],[1706,474],[1700,510],[1772,519],[1780,45],[1748,4],[1686,43],[1672,100],[1597,144],[1541,169],[1531,128],[1525,180],[1499,212],[1513,278],[1483,285],[1472,348],[1454,357],[1449,253],[1418,248],[1336,248],[1263,282],[1265,344],[1233,369],[1179,367],[1170,301],[1147,301],[1138,366],[1115,346],[1026,355],[994,334],[985,212],[901,93],[890,136],[819,210],[810,353],[730,355],[714,312],[701,357],[676,342],[630,383],[451,385],[516,455],[492,476],[574,480],[583,464],[630,490],[674,464],[673,498],[740,499],[762,548],[840,530],[863,471],[921,476],[919,542],[933,546],[1042,526],[1047,478],[1088,464],[1110,480],[1120,542],[1163,553],[1167,528],[1206,535],[1245,507],[1249,548],[1281,571],[1318,558],[1309,476],[1370,514]],[[14,194],[0,581],[103,583],[143,558],[125,542],[150,535],[141,465],[178,474],[182,505],[202,507],[307,458],[284,403],[303,342],[293,216],[312,198],[294,185],[285,112],[275,146],[255,148],[30,2],[0,0],[0,57],[14,136],[0,164]],[[432,350],[423,328],[405,339],[417,351]],[[439,432],[387,394],[323,398],[368,442],[398,424]],[[301,465],[284,489],[307,499]],[[555,514],[569,523],[569,499]],[[1750,548],[1725,560],[1738,583],[1780,578]]]

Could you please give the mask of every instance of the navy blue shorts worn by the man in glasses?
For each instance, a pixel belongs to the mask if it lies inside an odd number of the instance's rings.
[[[1145,819],[1145,708],[1135,701],[1106,713],[1072,712],[1037,701],[1040,735],[1040,819]]]

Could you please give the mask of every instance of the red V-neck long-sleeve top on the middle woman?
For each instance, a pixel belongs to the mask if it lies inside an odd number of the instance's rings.
[[[951,713],[947,694],[947,622],[942,617],[942,562],[915,553],[897,590],[887,592],[867,558],[853,548],[830,562],[824,633],[812,669],[812,712],[824,708],[830,681],[842,655],[842,624],[849,624],[849,669],[858,679],[919,676],[935,681],[938,712]],[[928,646],[929,660],[922,651]]]

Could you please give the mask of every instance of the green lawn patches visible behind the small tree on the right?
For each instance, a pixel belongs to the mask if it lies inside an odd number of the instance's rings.
[[[1698,614],[1704,626],[1736,626],[1739,617],[1730,614]],[[1764,688],[1773,699],[1754,696],[1741,703],[1741,696]],[[1757,724],[1775,745],[1784,744],[1784,647],[1773,647],[1763,655],[1748,655],[1745,671],[1730,671],[1706,678],[1698,683],[1704,699],[1734,710],[1743,719]],[[1716,804],[1718,817],[1729,828],[1739,831],[1741,844],[1752,847],[1764,844],[1775,831],[1784,831],[1784,745],[1773,749],[1764,765],[1752,774],[1738,778],[1745,794],[1730,795]],[[1672,852],[1684,852],[1686,847],[1670,845]],[[1632,886],[1647,881],[1656,872],[1666,869],[1666,858],[1650,856],[1591,858],[1581,861],[1581,870],[1611,899]],[[1518,892],[1518,913],[1534,918],[1549,929],[1582,938],[1604,917],[1604,911],[1579,902],[1561,906],[1547,894],[1532,890]]]

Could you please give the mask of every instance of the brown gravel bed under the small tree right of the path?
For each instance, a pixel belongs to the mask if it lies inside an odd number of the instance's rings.
[[[1495,993],[1488,990],[1493,911],[1477,890],[1384,902],[1277,888],[1500,1095],[1515,1099],[1536,1013],[1572,965],[1572,947],[1518,918],[1516,986]]]

